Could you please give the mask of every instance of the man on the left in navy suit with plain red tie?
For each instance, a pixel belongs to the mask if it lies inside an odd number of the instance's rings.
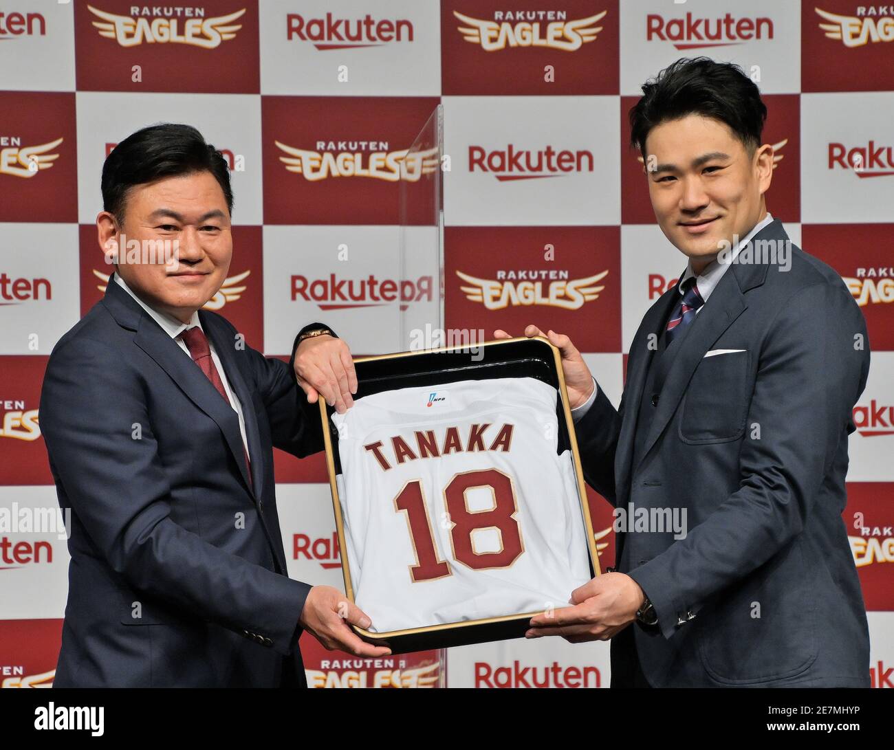
[[[370,622],[341,592],[288,577],[276,512],[273,447],[322,450],[318,394],[343,412],[357,389],[348,347],[311,324],[286,365],[202,309],[230,267],[232,190],[194,128],[122,140],[102,192],[99,244],[118,262],[40,399],[72,511],[55,686],[304,686],[304,630],[389,653],[353,633]]]

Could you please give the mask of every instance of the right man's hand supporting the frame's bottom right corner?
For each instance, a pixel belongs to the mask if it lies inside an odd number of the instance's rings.
[[[562,636],[572,644],[607,641],[637,619],[644,601],[643,589],[633,578],[624,573],[603,573],[572,592],[574,606],[531,618],[525,636]]]

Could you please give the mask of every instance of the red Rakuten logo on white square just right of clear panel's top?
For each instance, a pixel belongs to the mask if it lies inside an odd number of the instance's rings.
[[[557,151],[547,146],[539,151],[516,148],[488,151],[482,146],[468,147],[468,171],[491,173],[500,181],[536,180],[562,177],[572,173],[593,172],[593,152]]]

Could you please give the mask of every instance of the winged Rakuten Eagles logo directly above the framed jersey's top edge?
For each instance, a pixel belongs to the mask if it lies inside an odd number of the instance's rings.
[[[475,276],[456,274],[466,282],[460,290],[466,299],[480,302],[488,310],[544,305],[550,308],[578,310],[598,299],[605,289],[603,281],[608,271],[570,279],[568,271],[498,271],[496,279],[479,279]]]

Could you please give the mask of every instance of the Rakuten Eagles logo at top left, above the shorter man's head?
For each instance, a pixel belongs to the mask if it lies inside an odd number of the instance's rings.
[[[215,49],[236,37],[241,24],[233,24],[245,8],[228,15],[205,17],[205,8],[131,5],[131,15],[108,13],[87,6],[99,21],[93,25],[99,36],[114,39],[120,46],[182,44]]]

